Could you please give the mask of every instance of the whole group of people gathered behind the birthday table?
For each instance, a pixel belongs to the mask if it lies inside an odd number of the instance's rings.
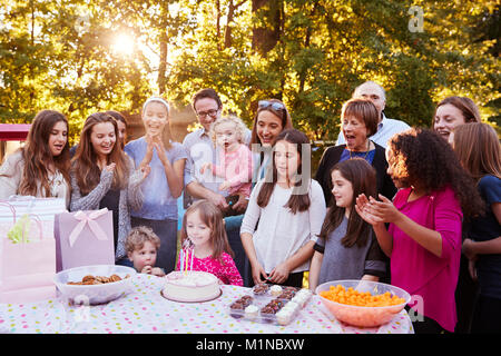
[[[190,268],[223,284],[301,287],[306,271],[313,290],[336,279],[379,280],[418,296],[407,306],[421,313],[416,333],[499,333],[498,135],[468,98],[439,102],[431,129],[386,118],[385,100],[373,81],[354,90],[314,178],[310,139],[277,99],[258,101],[250,130],[222,115],[215,90],[202,89],[193,97],[200,128],[180,144],[168,102],[151,97],[143,137],[126,144],[120,113],[96,112],[71,152],[66,117],[42,110],[0,167],[0,199],[108,208],[116,263],[141,273],[181,268],[188,246]]]

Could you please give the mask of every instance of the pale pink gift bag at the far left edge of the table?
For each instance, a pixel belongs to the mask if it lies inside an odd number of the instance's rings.
[[[8,216],[0,217],[0,303],[21,304],[56,298],[56,240],[36,216],[29,216],[29,229],[20,240],[8,238],[19,214],[13,206]]]

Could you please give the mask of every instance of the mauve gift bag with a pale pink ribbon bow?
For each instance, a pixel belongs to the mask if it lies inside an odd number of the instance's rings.
[[[56,270],[115,265],[112,211],[79,210],[56,215]]]

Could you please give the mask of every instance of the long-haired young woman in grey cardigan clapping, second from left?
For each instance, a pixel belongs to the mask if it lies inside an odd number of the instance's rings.
[[[125,240],[130,230],[130,209],[143,204],[140,184],[148,169],[136,170],[117,144],[117,121],[105,112],[90,115],[71,160],[70,210],[108,208],[114,215],[116,260],[126,257]]]

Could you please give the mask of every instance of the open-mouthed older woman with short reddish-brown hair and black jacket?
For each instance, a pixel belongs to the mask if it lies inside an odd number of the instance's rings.
[[[351,99],[343,106],[341,112],[342,130],[346,139],[345,145],[327,148],[322,156],[315,180],[324,190],[325,201],[331,202],[331,169],[332,167],[354,157],[362,157],[376,170],[377,192],[392,199],[396,188],[386,174],[387,162],[382,146],[369,139],[377,130],[377,109],[370,100]]]

